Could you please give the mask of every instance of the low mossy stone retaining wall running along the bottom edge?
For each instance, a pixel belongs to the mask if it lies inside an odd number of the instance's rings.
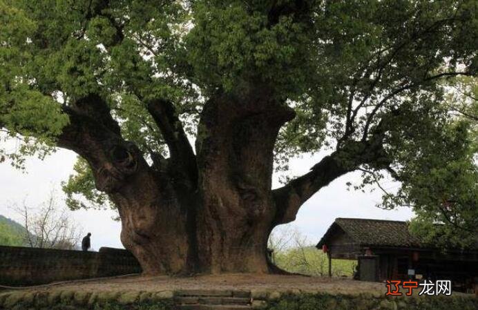
[[[185,298],[189,298],[186,301]],[[195,300],[195,298],[197,300]],[[242,300],[247,299],[245,302]],[[226,301],[226,302],[218,302]],[[207,304],[209,303],[209,304]],[[0,310],[476,310],[471,294],[401,296],[301,291],[11,291]]]

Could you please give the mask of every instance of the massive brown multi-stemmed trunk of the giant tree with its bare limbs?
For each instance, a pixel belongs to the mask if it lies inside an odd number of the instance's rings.
[[[272,191],[278,130],[294,117],[291,108],[272,98],[261,91],[209,99],[196,153],[173,104],[149,102],[171,155],[153,156],[150,166],[122,139],[106,102],[90,95],[65,108],[70,125],[58,144],[88,160],[97,188],[120,213],[122,243],[145,273],[267,273],[274,270],[267,260],[274,226],[294,220],[319,188],[380,149],[354,144],[352,151],[336,151],[307,175]],[[350,153],[353,164],[341,164],[339,157]]]

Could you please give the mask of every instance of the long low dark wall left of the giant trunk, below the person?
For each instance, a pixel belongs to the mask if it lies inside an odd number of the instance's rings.
[[[27,286],[62,280],[141,273],[135,257],[123,249],[98,252],[0,246],[0,284]]]

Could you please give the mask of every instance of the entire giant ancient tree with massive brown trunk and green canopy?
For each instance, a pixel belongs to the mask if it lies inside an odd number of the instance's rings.
[[[0,128],[23,141],[0,157],[21,166],[24,155],[75,151],[71,208],[117,208],[146,273],[275,271],[274,226],[356,170],[363,185],[401,181],[385,207],[452,205],[450,222],[475,227],[460,216],[468,202],[476,210],[476,195],[461,195],[476,192],[476,123],[450,113],[447,94],[457,77],[475,81],[477,9],[0,0]],[[329,155],[309,173],[271,188],[274,168],[319,150]],[[459,164],[465,172],[448,177],[468,187],[423,182]]]

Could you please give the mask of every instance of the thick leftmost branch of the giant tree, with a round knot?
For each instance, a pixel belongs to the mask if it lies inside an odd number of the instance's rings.
[[[101,97],[88,95],[62,108],[70,124],[57,137],[57,145],[88,161],[99,191],[113,193],[129,175],[147,171],[149,166],[140,150],[122,138],[120,126]]]

